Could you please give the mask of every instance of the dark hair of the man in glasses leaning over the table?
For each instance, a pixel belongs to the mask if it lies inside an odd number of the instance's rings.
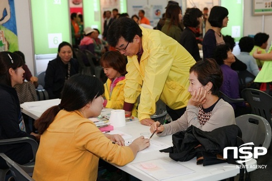
[[[116,47],[120,37],[128,42],[133,42],[135,35],[142,37],[142,30],[135,20],[129,17],[119,17],[109,27],[107,42],[110,46]]]

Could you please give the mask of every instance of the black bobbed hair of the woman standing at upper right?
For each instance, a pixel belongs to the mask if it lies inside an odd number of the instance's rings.
[[[228,14],[229,12],[226,8],[222,6],[214,6],[211,9],[208,21],[210,22],[211,26],[222,28],[223,19],[228,16]]]

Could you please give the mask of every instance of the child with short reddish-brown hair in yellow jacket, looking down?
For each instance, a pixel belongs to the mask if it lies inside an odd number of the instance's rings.
[[[104,83],[105,93],[103,106],[105,108],[123,109],[126,60],[118,51],[108,51],[101,57],[101,66],[108,77]],[[136,105],[134,105],[133,116],[137,116]]]

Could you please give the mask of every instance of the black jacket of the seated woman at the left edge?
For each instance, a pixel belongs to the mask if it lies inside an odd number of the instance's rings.
[[[22,120],[21,108],[15,88],[0,83],[0,139],[35,137],[19,128]],[[26,164],[33,158],[32,148],[27,143],[2,145],[0,152],[18,164]],[[8,168],[0,158],[0,169]]]

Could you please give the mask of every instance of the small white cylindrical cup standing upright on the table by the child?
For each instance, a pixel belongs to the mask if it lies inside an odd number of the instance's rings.
[[[125,110],[122,109],[112,110],[109,120],[114,128],[125,126],[126,125]]]

